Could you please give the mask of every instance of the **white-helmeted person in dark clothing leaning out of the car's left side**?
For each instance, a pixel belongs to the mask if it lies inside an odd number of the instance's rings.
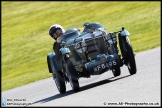
[[[60,49],[61,38],[62,38],[64,32],[65,32],[65,29],[59,24],[54,24],[49,29],[49,35],[54,40],[56,40],[56,42],[54,42],[54,44],[53,44],[53,50],[55,53],[57,53]]]

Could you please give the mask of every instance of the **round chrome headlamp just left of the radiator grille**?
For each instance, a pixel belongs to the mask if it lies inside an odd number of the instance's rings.
[[[87,44],[83,41],[76,43],[75,49],[78,53],[83,53],[87,51]]]

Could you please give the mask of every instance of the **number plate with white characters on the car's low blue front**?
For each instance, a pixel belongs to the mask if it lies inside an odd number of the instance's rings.
[[[98,66],[94,66],[93,70],[94,70],[94,72],[98,72],[98,71],[100,71],[102,69],[105,69],[107,67],[111,68],[112,66],[115,66],[115,65],[117,65],[117,61],[113,60],[113,61],[110,61],[110,62],[107,62],[107,63],[104,63],[104,64],[100,64]]]

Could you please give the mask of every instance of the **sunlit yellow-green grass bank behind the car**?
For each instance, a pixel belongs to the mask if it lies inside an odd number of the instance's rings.
[[[160,46],[160,2],[7,2],[2,6],[2,90],[51,77],[49,27],[99,22],[107,32],[124,26],[135,52]]]

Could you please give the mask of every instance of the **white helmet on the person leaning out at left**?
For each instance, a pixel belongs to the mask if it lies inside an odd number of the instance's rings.
[[[59,24],[54,24],[49,29],[49,35],[55,40],[62,36],[64,32],[64,28]]]

